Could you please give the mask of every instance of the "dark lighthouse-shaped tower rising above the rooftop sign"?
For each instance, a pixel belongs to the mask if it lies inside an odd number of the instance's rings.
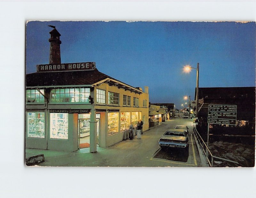
[[[49,63],[60,64],[60,33],[54,28],[51,32],[50,42],[50,59]]]

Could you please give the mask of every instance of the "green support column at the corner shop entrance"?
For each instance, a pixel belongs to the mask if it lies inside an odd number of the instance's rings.
[[[90,122],[90,152],[97,152],[97,121],[96,121],[96,111],[91,110],[91,120]]]

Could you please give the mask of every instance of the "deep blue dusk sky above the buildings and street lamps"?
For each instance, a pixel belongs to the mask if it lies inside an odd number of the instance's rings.
[[[255,22],[74,22],[27,24],[26,72],[49,63],[50,38],[60,32],[61,62],[96,62],[102,73],[134,87],[149,87],[151,103],[194,99],[199,87],[255,86]]]

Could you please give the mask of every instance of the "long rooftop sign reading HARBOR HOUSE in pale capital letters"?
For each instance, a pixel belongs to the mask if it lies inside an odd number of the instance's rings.
[[[95,62],[77,62],[77,63],[36,65],[37,72],[94,70],[95,68],[96,68]]]

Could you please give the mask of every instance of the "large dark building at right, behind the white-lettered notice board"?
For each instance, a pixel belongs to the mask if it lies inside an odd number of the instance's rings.
[[[196,95],[196,94],[195,94]],[[236,105],[236,124],[211,124],[210,141],[255,142],[255,87],[199,88],[198,131],[207,140],[208,105]]]

